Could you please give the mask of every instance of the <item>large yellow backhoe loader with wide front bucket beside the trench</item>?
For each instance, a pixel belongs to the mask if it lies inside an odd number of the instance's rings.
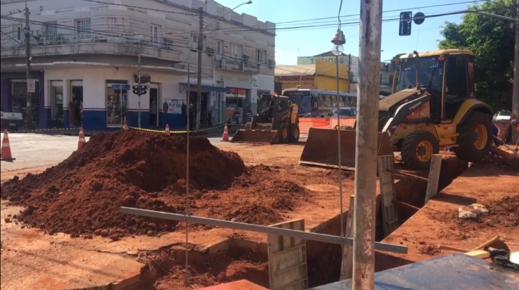
[[[411,169],[426,169],[440,147],[479,162],[492,142],[492,108],[474,98],[474,54],[444,49],[403,55],[390,96],[379,101],[378,155],[400,151]],[[341,164],[355,166],[355,125],[340,130]],[[342,128],[341,128],[342,129]],[[310,128],[301,163],[338,165],[337,130]]]

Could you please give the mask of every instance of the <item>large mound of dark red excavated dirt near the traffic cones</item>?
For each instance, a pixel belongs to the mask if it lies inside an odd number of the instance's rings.
[[[205,137],[190,138],[193,190],[225,190],[246,171],[236,153],[220,151]],[[16,218],[50,234],[100,234],[116,240],[128,234],[173,231],[176,222],[123,215],[119,207],[179,212],[180,202],[166,204],[157,197],[180,200],[185,178],[185,136],[133,130],[101,133],[42,174],[7,181],[1,198],[26,206]]]

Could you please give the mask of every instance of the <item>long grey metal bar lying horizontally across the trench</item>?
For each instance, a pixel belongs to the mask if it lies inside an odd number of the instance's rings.
[[[241,229],[243,231],[254,231],[257,233],[273,234],[278,236],[290,236],[293,238],[303,238],[309,241],[317,241],[322,243],[333,243],[336,245],[353,245],[353,239],[340,236],[331,236],[326,234],[310,233],[308,231],[296,231],[294,229],[282,229],[278,227],[262,226],[260,224],[246,224],[244,222],[230,222],[228,220],[216,220],[210,217],[197,217],[194,215],[183,215],[181,213],[163,213],[160,211],[149,211],[140,208],[128,208],[121,206],[121,213],[129,215],[140,215],[143,217],[160,218],[163,220],[176,220],[183,222],[186,219],[193,224],[206,224],[213,227],[225,227],[227,229]],[[344,241],[340,241],[340,240]],[[375,243],[375,249],[386,252],[394,252],[398,254],[407,254],[407,246],[392,245],[388,243]]]

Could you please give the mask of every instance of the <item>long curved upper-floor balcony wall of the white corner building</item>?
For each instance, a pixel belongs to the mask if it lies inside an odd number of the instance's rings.
[[[32,56],[77,55],[77,54],[137,54],[139,43],[127,38],[103,38],[100,36],[54,36],[31,41]],[[170,45],[140,42],[141,56],[181,62],[182,52]],[[1,57],[24,57],[25,45],[17,43],[2,43]]]

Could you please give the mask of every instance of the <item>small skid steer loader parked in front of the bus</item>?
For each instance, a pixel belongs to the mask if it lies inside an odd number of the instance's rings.
[[[253,121],[236,131],[231,142],[292,143],[299,141],[298,107],[286,96],[262,95]]]

